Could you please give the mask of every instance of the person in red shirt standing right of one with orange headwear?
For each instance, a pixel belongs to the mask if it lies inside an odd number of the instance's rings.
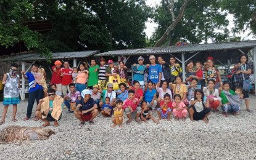
[[[67,95],[67,91],[70,92],[69,89],[69,84],[72,83],[72,73],[73,70],[72,68],[69,67],[69,62],[65,61],[64,62],[64,68],[60,69],[60,76],[62,76],[62,92],[63,92],[63,96]]]

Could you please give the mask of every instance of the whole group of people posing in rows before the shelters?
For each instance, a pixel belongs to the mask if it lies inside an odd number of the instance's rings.
[[[30,72],[21,71],[29,84],[27,115],[23,120],[31,118],[35,100],[36,116],[33,119],[44,121],[42,127],[49,126],[50,121],[59,126],[65,106],[68,113],[73,113],[80,120],[80,128],[85,121],[94,124],[93,119],[99,113],[112,118],[112,127],[123,126],[124,113],[128,118],[127,125],[133,119],[139,124],[149,119],[155,123],[161,119],[171,121],[171,114],[175,121],[186,121],[189,115],[191,121],[203,120],[207,123],[211,111],[218,111],[218,107],[224,116],[228,113],[237,115],[243,98],[247,111],[252,112],[249,90],[243,88],[244,80],[249,79],[252,73],[246,54],[241,54],[239,63],[234,66],[234,91],[229,82],[222,81],[212,57],[208,57],[205,63],[188,62],[185,82],[181,78],[181,66],[174,56],[170,57],[170,63],[159,56],[157,64],[154,55],[149,56],[149,61],[150,64],[144,64],[144,58],[138,57],[138,63],[133,64],[133,79],[130,82],[128,68],[123,61],[115,65],[113,60],[108,60],[106,64],[101,58],[97,65],[96,60],[91,59],[89,68],[86,63],[70,68],[68,61],[62,67],[62,62],[57,60],[52,66],[51,87],[48,89],[43,68],[33,64]],[[5,122],[9,105],[14,106],[12,121],[17,121],[15,115],[20,103],[17,71],[18,65],[14,63],[9,73],[4,74],[4,110],[0,125]],[[152,111],[157,111],[157,119]]]

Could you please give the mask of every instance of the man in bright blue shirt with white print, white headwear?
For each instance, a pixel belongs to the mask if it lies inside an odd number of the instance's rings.
[[[149,61],[151,62],[151,65],[149,66],[149,78],[148,80],[151,80],[154,85],[160,86],[161,78],[162,78],[162,68],[159,64],[155,63],[155,56],[150,55]]]

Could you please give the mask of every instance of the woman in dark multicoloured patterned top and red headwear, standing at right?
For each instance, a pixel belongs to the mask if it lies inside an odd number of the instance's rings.
[[[213,58],[208,57],[207,63],[204,65],[204,74],[205,74],[205,84],[208,84],[208,81],[212,79],[215,81],[215,88],[218,89],[219,86],[222,86],[222,81],[220,77],[220,72],[214,66]],[[220,84],[218,84],[220,82]]]

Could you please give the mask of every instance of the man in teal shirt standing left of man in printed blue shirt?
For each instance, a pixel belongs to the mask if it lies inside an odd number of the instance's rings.
[[[133,81],[138,81],[139,85],[142,87],[143,91],[145,88],[144,85],[144,76],[147,71],[146,65],[143,65],[144,58],[139,56],[138,58],[138,64],[133,64]]]

